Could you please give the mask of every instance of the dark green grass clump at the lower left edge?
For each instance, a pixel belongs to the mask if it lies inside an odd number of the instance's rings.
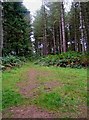
[[[21,101],[21,95],[15,91],[9,89],[2,91],[2,109],[12,105],[18,105],[21,103]]]

